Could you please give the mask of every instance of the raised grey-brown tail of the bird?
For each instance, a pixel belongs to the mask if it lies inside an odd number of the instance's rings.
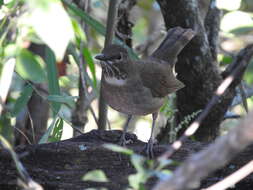
[[[165,39],[151,57],[162,59],[173,64],[177,59],[177,55],[194,35],[195,32],[192,29],[184,29],[181,27],[169,29]]]

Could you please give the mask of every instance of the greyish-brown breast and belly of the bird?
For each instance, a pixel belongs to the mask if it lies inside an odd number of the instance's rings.
[[[104,78],[101,83],[107,104],[115,110],[131,115],[146,115],[156,112],[163,105],[164,98],[153,97],[142,83],[120,80]]]

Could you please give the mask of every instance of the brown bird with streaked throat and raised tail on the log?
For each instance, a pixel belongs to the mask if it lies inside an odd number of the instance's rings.
[[[191,29],[172,28],[157,50],[139,61],[131,60],[127,50],[115,44],[95,57],[101,61],[101,90],[106,103],[128,114],[121,137],[122,145],[126,143],[125,133],[132,115],[152,114],[152,130],[146,150],[148,156],[153,157],[153,132],[158,111],[168,94],[184,87],[173,71],[177,55],[193,36]]]

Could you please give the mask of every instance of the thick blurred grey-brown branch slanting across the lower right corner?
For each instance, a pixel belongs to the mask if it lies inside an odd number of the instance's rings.
[[[186,190],[197,188],[201,179],[227,164],[236,154],[253,142],[253,111],[227,135],[189,157],[167,181],[153,190]]]

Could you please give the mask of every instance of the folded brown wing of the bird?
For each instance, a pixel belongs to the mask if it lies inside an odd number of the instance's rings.
[[[145,61],[140,68],[142,83],[150,89],[153,97],[164,97],[184,87],[184,84],[177,80],[170,65]]]

